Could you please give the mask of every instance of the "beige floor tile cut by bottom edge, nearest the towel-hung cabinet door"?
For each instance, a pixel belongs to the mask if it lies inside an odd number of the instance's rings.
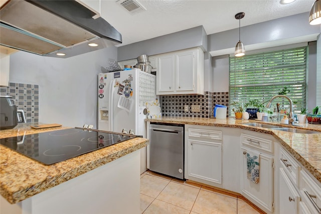
[[[237,199],[200,190],[192,211],[197,213],[237,213]]]

